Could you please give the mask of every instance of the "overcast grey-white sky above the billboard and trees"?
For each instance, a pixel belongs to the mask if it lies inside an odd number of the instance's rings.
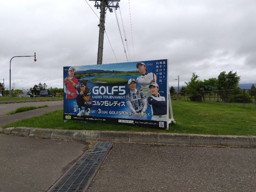
[[[97,64],[100,9],[94,4],[0,0],[0,82],[9,88],[12,57],[34,52],[36,62],[12,59],[11,87],[62,88],[63,67]],[[168,59],[174,87],[193,73],[204,81],[222,71],[237,72],[240,84],[256,83],[255,0],[120,0],[119,6],[106,14],[103,64]]]

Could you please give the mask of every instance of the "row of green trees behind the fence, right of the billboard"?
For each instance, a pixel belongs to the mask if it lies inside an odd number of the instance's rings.
[[[201,81],[198,79],[199,76],[196,73],[192,74],[192,77],[189,82],[185,82],[187,86],[182,86],[180,90],[180,94],[187,93],[189,100],[195,101],[196,96],[198,94],[202,95],[203,100],[205,101],[204,95],[205,92],[217,92],[218,97],[222,101],[233,102],[234,101],[234,93],[227,93],[221,90],[236,90],[236,100],[240,97],[245,98],[245,102],[252,102],[251,97],[255,96],[255,85],[252,84],[251,90],[243,93],[240,87],[238,87],[240,76],[237,75],[237,72],[233,73],[233,71],[222,71],[217,78],[210,78],[208,80],[204,79]],[[175,89],[173,86],[170,88],[170,94],[174,94]]]

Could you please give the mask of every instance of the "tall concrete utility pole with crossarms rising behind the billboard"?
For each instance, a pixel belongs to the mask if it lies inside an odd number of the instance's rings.
[[[94,0],[89,0],[89,1],[94,1]],[[100,24],[98,25],[100,28],[100,31],[99,31],[97,64],[102,64],[106,11],[107,9],[109,9],[109,12],[113,12],[112,7],[114,7],[117,10],[117,8],[119,7],[119,4],[118,4],[119,1],[120,0],[115,0],[115,1],[100,0],[100,4],[98,3],[98,1],[95,1],[94,7],[96,7],[97,9],[99,9],[100,7]],[[116,5],[114,5],[114,2],[117,2]]]

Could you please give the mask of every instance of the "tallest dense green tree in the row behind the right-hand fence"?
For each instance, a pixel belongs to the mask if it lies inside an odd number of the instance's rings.
[[[222,71],[217,79],[218,90],[229,90],[229,89],[239,89],[238,84],[240,81],[240,76],[237,76],[237,73],[233,73],[233,71],[229,71],[226,74],[226,71]],[[223,101],[227,100],[228,95],[225,92],[220,92],[220,98]]]

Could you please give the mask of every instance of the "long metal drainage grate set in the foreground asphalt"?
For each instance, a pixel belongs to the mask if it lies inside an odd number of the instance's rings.
[[[85,186],[88,188],[113,142],[97,142],[93,146],[47,192],[81,192]]]

